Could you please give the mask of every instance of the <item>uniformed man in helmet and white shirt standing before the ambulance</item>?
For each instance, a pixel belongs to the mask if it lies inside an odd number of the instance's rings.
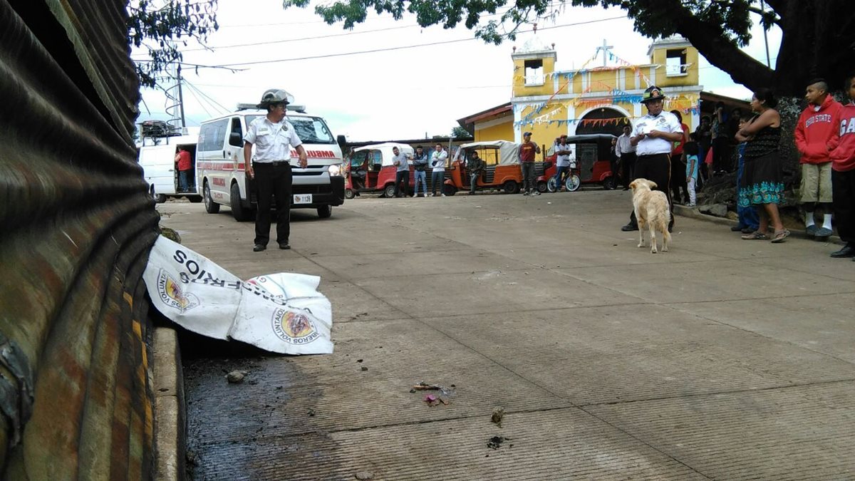
[[[303,142],[291,122],[285,120],[286,105],[291,101],[284,90],[264,92],[258,108],[267,109],[267,116],[252,121],[244,135],[246,175],[255,181],[258,192],[254,252],[266,249],[270,241],[271,196],[276,199],[276,242],[280,249],[291,248],[291,147],[297,151],[300,167],[308,165]],[[256,146],[255,158],[252,145]]]

